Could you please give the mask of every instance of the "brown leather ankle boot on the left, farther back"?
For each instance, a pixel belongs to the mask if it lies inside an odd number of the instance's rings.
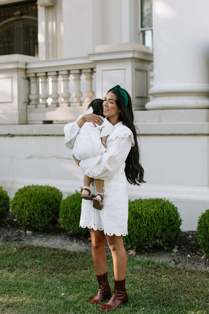
[[[111,296],[111,287],[108,282],[108,273],[105,273],[99,276],[96,275],[96,277],[97,277],[98,285],[99,285],[98,292],[92,298],[92,300],[88,302],[88,305],[98,304],[102,302],[104,299],[106,299],[107,297]]]

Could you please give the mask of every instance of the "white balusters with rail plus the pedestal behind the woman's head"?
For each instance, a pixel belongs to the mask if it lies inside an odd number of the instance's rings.
[[[96,97],[102,98],[115,82],[131,92],[135,110],[144,110],[149,101],[152,59],[148,47],[125,43],[117,47],[98,46],[95,53],[85,57],[27,62],[30,85],[27,123],[73,121],[95,97],[94,87]]]

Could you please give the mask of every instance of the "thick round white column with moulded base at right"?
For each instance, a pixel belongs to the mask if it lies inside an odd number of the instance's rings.
[[[208,0],[153,0],[154,87],[148,110],[209,108]]]

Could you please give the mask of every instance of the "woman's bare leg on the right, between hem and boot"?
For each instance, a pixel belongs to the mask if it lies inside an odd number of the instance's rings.
[[[108,245],[113,256],[113,267],[115,280],[120,281],[126,278],[127,254],[124,248],[123,236],[108,236],[106,234]]]

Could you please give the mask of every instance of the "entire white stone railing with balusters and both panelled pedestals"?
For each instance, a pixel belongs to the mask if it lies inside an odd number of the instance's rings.
[[[152,60],[150,49],[137,43],[97,46],[69,59],[0,56],[0,124],[73,121],[114,85],[130,93],[135,110],[144,110]]]

